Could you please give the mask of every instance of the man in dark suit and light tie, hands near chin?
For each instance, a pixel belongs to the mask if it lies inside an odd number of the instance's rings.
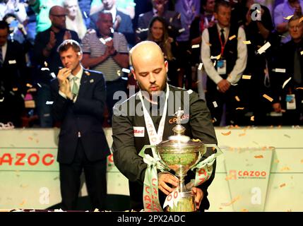
[[[76,208],[80,175],[84,169],[93,208],[105,209],[106,162],[109,147],[102,129],[105,79],[97,71],[83,69],[82,50],[74,40],[58,48],[64,66],[51,83],[53,116],[61,121],[58,157],[62,208]]]

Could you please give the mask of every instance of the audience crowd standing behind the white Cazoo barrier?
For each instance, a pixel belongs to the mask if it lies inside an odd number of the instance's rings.
[[[0,1],[0,129],[59,126],[50,84],[57,48],[81,43],[100,71],[111,126],[114,93],[136,85],[129,51],[156,42],[168,83],[206,100],[215,126],[303,124],[303,0]]]

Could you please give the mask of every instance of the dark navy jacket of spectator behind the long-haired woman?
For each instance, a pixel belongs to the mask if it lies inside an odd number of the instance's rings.
[[[139,15],[138,18],[138,28],[146,29],[149,27],[150,20],[152,20],[154,17],[153,11],[149,11],[147,13],[142,13]],[[167,31],[168,35],[170,37],[175,38],[179,36],[181,33],[179,30],[182,28],[181,25],[181,16],[175,11],[165,11],[162,15],[162,18],[165,19],[167,23]],[[148,38],[148,30],[136,33],[138,35],[138,38],[141,41],[144,41]]]

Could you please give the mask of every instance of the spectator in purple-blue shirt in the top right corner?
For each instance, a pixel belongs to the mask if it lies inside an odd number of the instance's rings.
[[[302,8],[303,0],[287,0],[275,7],[273,20],[275,22],[275,29],[281,35],[282,43],[286,43],[291,39],[287,28],[287,19],[285,18],[292,15],[302,16]]]

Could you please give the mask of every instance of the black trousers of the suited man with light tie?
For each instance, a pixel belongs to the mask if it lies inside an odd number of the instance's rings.
[[[71,164],[59,164],[61,208],[63,210],[76,210],[81,185],[80,176],[84,169],[85,183],[92,209],[105,210],[107,197],[106,167],[106,159],[95,162],[88,160],[81,138],[79,138],[73,162]]]

